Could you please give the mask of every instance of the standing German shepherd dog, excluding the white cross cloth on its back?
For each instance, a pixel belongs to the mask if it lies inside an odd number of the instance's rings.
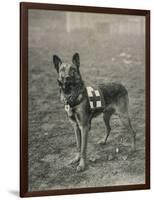
[[[73,125],[77,154],[71,163],[78,162],[77,171],[83,171],[86,166],[86,149],[88,132],[91,128],[93,117],[103,113],[107,134],[104,140],[106,143],[110,134],[110,118],[117,114],[132,135],[132,148],[135,150],[135,131],[132,128],[128,114],[128,92],[119,83],[104,83],[99,85],[103,91],[105,108],[92,111],[90,108],[87,90],[80,74],[80,58],[75,53],[72,62],[65,63],[57,56],[53,56],[53,63],[58,73],[58,85],[60,88],[61,101],[64,103],[69,121]]]

